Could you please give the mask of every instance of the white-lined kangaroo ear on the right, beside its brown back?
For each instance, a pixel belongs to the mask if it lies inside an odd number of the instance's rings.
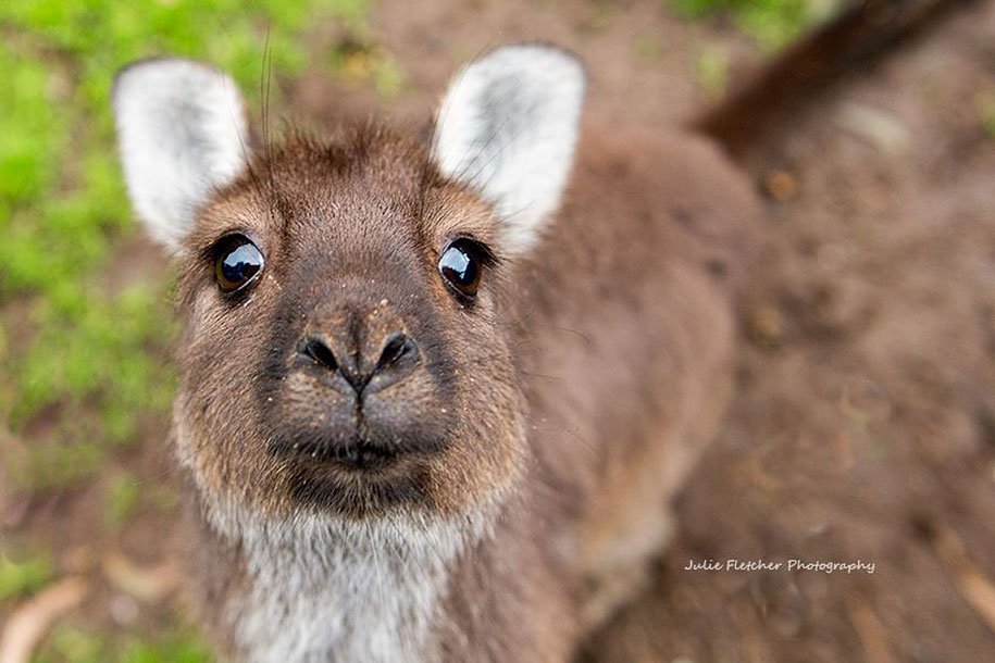
[[[526,251],[559,207],[584,87],[584,67],[572,54],[511,46],[465,66],[439,107],[435,159],[443,174],[494,204],[510,252]]]

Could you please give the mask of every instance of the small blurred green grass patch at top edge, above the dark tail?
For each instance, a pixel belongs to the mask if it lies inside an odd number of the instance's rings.
[[[736,26],[762,48],[773,50],[797,38],[832,9],[830,0],[669,0],[686,18],[714,13],[732,16]]]

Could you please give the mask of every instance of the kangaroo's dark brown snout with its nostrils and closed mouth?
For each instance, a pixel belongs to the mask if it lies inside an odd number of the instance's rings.
[[[438,450],[425,410],[445,405],[433,397],[428,358],[390,302],[353,291],[303,315],[263,398],[270,453],[365,471]]]

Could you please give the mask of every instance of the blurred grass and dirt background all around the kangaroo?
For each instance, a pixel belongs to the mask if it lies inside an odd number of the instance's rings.
[[[768,237],[736,404],[681,498],[676,547],[592,659],[992,660],[992,4],[842,88],[750,165]],[[663,130],[839,5],[5,0],[2,663],[209,660],[170,562],[174,272],[121,182],[119,67],[185,55],[232,73],[257,117],[265,96],[272,117],[308,126],[375,113],[419,127],[462,62],[538,38],[587,61],[590,122]],[[682,571],[761,556],[876,571]]]

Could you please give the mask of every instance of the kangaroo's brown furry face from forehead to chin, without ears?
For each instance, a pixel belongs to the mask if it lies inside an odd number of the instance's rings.
[[[488,208],[383,134],[294,140],[198,216],[179,442],[212,491],[459,511],[523,451]]]

